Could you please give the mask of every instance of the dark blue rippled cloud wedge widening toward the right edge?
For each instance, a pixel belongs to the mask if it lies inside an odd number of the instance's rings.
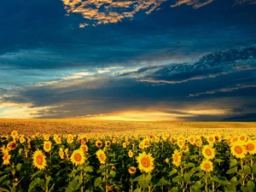
[[[256,49],[229,49],[202,56],[195,63],[162,67],[144,75],[142,82],[181,84],[191,80],[214,79],[219,75],[256,69]],[[137,72],[138,73],[138,72]]]

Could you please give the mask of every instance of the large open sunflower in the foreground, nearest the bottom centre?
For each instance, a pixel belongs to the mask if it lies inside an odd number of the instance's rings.
[[[152,172],[154,170],[154,158],[151,154],[143,152],[137,156],[138,168],[141,172]]]

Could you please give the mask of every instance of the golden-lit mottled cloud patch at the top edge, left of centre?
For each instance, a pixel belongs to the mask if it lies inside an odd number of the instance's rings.
[[[84,19],[93,21],[92,24],[81,23],[79,27],[117,23],[124,18],[132,18],[140,10],[145,11],[145,14],[148,15],[158,9],[160,4],[165,1],[62,0],[67,15],[80,14],[83,15]]]

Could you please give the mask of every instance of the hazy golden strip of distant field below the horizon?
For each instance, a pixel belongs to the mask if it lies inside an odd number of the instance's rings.
[[[20,134],[32,135],[37,132],[49,134],[118,134],[125,133],[161,133],[173,135],[256,134],[255,122],[137,122],[89,119],[0,119],[0,132],[10,133],[16,130]]]

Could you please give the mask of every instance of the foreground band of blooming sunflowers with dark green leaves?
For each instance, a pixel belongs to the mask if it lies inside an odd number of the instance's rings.
[[[0,137],[0,191],[256,191],[253,135]]]

